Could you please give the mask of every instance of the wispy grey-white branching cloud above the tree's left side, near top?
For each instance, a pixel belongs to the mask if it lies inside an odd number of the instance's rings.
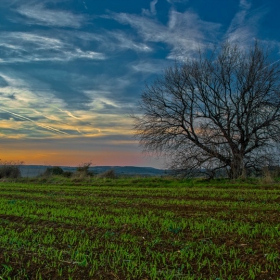
[[[171,10],[166,25],[145,16],[113,13],[112,18],[137,30],[145,43],[165,43],[171,49],[167,58],[191,56],[198,48],[204,49],[216,42],[220,24],[206,22],[191,11]]]

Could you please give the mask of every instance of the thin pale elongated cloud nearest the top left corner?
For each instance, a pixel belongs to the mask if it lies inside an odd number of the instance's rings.
[[[85,22],[84,15],[75,15],[69,11],[50,10],[44,4],[25,4],[16,11],[32,24],[56,27],[80,28]]]

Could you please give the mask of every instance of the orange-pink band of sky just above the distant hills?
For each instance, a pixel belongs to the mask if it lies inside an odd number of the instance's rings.
[[[6,139],[0,141],[0,160],[20,161],[26,165],[78,166],[152,166],[162,162],[145,155],[137,140],[108,137],[60,139]]]

